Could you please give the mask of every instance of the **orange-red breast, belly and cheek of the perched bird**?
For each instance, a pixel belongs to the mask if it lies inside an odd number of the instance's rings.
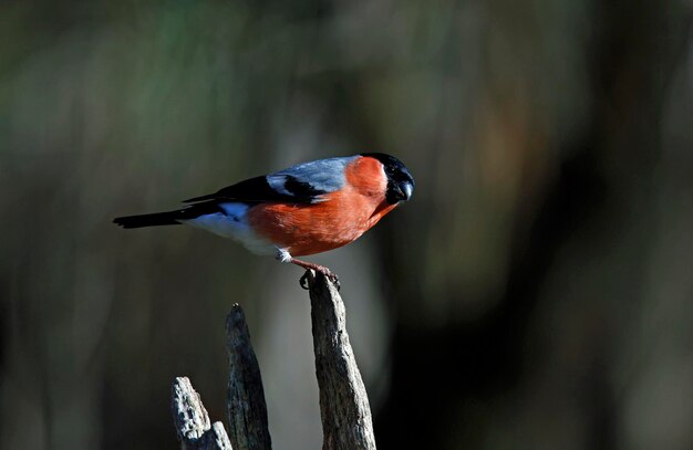
[[[337,249],[358,239],[392,211],[385,201],[387,185],[382,165],[361,157],[346,167],[346,184],[312,205],[260,203],[248,221],[261,237],[293,257]]]

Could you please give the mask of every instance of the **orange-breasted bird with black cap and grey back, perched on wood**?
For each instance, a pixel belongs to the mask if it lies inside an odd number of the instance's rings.
[[[125,229],[192,226],[231,238],[256,254],[320,272],[339,287],[330,269],[297,257],[353,242],[410,200],[414,186],[400,159],[363,153],[298,164],[184,200],[186,205],[173,211],[118,217],[113,222]],[[307,289],[306,275],[300,284]]]

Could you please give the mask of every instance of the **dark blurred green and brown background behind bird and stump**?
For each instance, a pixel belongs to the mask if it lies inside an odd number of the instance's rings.
[[[246,310],[276,449],[321,446],[301,271],[116,216],[400,157],[340,274],[381,449],[693,448],[693,3],[0,3],[0,447],[177,446]]]

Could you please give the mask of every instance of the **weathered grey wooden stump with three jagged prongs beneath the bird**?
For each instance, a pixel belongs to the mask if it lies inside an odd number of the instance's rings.
[[[325,450],[375,449],[368,395],[356,367],[346,313],[337,287],[322,274],[308,271],[316,375]],[[227,436],[209,417],[190,381],[176,378],[172,409],[182,449],[271,449],[267,405],[258,360],[246,317],[238,304],[226,318],[229,381]]]

